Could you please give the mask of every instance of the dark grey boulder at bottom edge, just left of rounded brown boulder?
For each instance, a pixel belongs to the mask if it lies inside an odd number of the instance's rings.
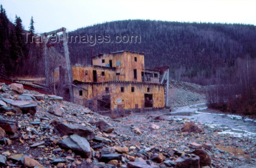
[[[184,154],[175,161],[175,168],[200,168],[199,161],[199,156]]]

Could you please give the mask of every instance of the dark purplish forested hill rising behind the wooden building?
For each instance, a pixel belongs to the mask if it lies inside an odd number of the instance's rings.
[[[69,34],[140,34],[141,43],[70,43],[72,63],[90,63],[90,53],[131,50],[145,53],[147,68],[170,66],[176,80],[215,84],[237,69],[237,58],[256,57],[256,27],[242,24],[123,20],[79,28]]]

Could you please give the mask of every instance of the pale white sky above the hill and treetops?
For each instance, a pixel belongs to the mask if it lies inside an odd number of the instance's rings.
[[[256,0],[1,0],[8,18],[15,14],[37,33],[66,27],[69,31],[125,19],[256,25]]]

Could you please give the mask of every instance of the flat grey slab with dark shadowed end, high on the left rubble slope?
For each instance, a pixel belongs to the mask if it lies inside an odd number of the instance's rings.
[[[13,101],[10,104],[18,107],[22,113],[35,114],[37,112],[37,102],[34,101]]]

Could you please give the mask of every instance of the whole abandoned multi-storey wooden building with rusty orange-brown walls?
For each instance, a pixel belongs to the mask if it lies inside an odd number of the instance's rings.
[[[74,102],[95,111],[164,108],[169,67],[144,68],[144,54],[118,51],[72,66]]]

